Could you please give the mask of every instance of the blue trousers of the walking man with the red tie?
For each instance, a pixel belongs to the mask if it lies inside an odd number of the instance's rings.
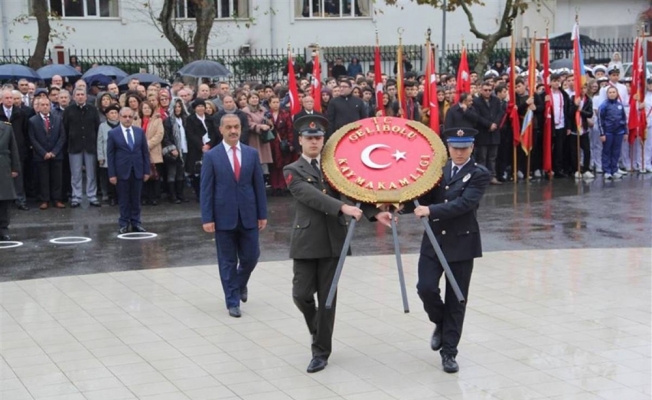
[[[245,229],[238,222],[233,230],[216,230],[215,244],[226,308],[238,307],[240,292],[247,287],[251,273],[258,264],[258,228]]]

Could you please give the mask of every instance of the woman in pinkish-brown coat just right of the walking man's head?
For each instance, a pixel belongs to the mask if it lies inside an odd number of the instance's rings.
[[[267,132],[274,128],[274,123],[269,118],[269,112],[260,105],[258,93],[249,93],[247,103],[248,105],[243,111],[249,120],[249,146],[258,150],[263,174],[266,175],[266,179],[269,179],[268,164],[272,163],[272,148],[269,142],[261,140],[261,136],[263,138],[267,136]]]

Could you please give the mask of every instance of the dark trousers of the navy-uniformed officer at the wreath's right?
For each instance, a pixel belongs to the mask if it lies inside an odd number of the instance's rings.
[[[473,260],[451,262],[449,265],[464,298],[468,302]],[[419,297],[430,321],[437,325],[441,324],[441,354],[456,356],[457,345],[462,336],[466,303],[460,304],[457,300],[453,289],[448,283],[448,278],[446,278],[446,299],[442,301],[439,280],[443,273],[444,268],[437,257],[432,258],[421,254],[419,257],[419,282],[417,283]]]

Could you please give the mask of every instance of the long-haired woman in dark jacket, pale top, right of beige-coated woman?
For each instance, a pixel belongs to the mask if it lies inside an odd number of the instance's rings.
[[[168,200],[170,203],[187,202],[183,195],[185,185],[184,163],[188,157],[188,141],[186,139],[186,118],[188,111],[183,100],[175,99],[169,117],[163,121],[165,131],[163,137],[163,161],[167,167]]]

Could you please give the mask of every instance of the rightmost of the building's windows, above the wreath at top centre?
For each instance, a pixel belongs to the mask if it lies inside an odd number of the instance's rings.
[[[296,18],[369,17],[370,0],[294,0]]]

